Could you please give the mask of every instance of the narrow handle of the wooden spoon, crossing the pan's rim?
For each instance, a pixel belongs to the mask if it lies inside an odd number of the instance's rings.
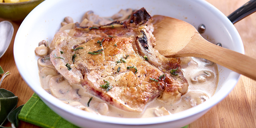
[[[189,51],[192,56],[205,58],[256,80],[256,59],[212,44],[200,34],[195,34],[195,36],[197,37],[192,38],[184,51]]]

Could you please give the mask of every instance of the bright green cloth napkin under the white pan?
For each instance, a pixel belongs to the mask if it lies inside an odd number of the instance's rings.
[[[34,93],[20,111],[19,119],[43,128],[79,128],[52,111]],[[182,128],[187,128],[184,126]]]

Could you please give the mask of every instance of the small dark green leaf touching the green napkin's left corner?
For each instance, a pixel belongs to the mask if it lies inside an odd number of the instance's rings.
[[[20,105],[18,108],[14,109],[12,112],[10,112],[7,116],[8,121],[11,122],[16,128],[18,128],[19,119],[18,115],[20,114],[21,108],[24,106]]]

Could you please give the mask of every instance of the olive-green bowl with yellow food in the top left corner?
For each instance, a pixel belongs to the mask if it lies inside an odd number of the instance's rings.
[[[0,18],[22,21],[38,4],[44,0],[30,0],[18,3],[0,3]]]

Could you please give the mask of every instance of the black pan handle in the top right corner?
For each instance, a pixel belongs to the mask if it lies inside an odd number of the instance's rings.
[[[235,12],[232,12],[228,19],[233,23],[244,19],[246,16],[249,16],[253,12],[256,12],[256,0],[250,0],[249,2],[245,3],[240,8],[236,9]]]

